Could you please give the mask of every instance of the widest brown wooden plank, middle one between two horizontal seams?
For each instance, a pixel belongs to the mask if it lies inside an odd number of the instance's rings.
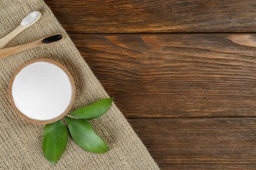
[[[256,36],[71,35],[127,118],[256,116]]]

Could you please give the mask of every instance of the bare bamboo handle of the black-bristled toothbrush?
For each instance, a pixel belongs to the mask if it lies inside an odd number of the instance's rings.
[[[20,46],[14,46],[14,47],[10,47],[10,48],[1,49],[0,50],[0,59],[6,58],[7,56],[16,54],[16,53],[24,51],[24,50],[28,50],[29,48],[34,48],[34,47],[41,46],[41,45],[42,45],[41,40],[39,40],[39,41],[31,42],[29,44],[24,44],[24,45],[20,45]]]

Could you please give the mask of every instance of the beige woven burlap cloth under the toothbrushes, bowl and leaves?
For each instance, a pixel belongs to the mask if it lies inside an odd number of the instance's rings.
[[[0,0],[0,37],[12,31],[33,10],[41,10],[39,22],[8,46],[32,42],[53,33],[65,33],[43,1]],[[7,93],[14,71],[35,58],[54,59],[70,70],[77,86],[73,109],[109,97],[69,37],[54,46],[34,48],[0,59],[0,169],[159,169],[116,105],[92,121],[96,133],[110,146],[109,152],[92,154],[69,139],[57,165],[51,165],[41,150],[44,126],[20,118],[12,109]]]

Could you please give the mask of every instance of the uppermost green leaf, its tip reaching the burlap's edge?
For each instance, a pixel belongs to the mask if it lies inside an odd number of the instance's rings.
[[[98,118],[108,111],[108,109],[110,109],[112,101],[113,98],[101,99],[100,101],[96,101],[91,105],[74,110],[70,113],[70,115],[86,120]]]

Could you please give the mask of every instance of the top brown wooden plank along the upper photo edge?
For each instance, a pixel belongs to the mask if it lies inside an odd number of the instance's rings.
[[[69,33],[255,32],[256,1],[45,0]]]

